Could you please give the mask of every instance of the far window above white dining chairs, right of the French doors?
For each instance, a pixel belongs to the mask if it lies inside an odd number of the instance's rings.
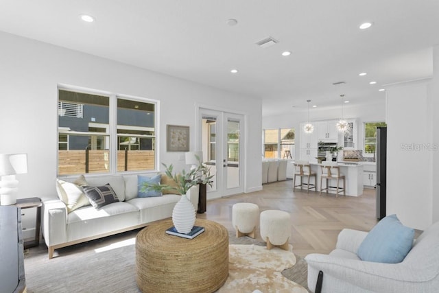
[[[294,128],[263,130],[263,156],[267,159],[293,159]]]

